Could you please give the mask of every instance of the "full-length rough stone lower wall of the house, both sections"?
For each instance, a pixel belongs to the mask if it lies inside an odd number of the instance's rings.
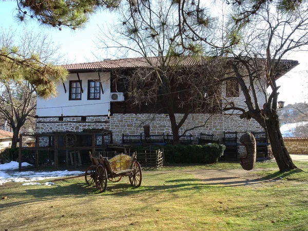
[[[179,122],[182,114],[176,114]],[[207,122],[205,123],[205,121]],[[52,123],[48,123],[53,121]],[[107,123],[102,123],[102,121]],[[43,123],[42,123],[43,122]],[[96,123],[95,123],[96,122]],[[101,122],[101,123],[99,123]],[[144,133],[144,126],[149,125],[150,134],[170,133],[171,124],[167,114],[113,114],[110,120],[107,117],[87,117],[87,121],[81,121],[80,117],[64,118],[64,121],[58,121],[58,118],[39,118],[37,119],[36,132],[59,132],[73,131],[79,132],[83,129],[105,128],[113,133],[113,143],[120,144],[122,133],[140,134]],[[182,133],[185,129],[197,127],[188,131],[191,134],[194,143],[198,142],[200,132],[214,134],[214,140],[223,137],[223,131],[238,131],[240,137],[246,131],[263,131],[262,127],[254,120],[247,122],[238,115],[214,115],[210,114],[190,114],[180,129]]]

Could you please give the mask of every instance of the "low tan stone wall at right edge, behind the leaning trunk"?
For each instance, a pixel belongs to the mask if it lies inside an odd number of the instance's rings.
[[[283,141],[290,154],[308,154],[308,137],[287,137]]]

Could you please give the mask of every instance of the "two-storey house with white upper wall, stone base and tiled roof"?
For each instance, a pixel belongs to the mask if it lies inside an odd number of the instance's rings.
[[[151,58],[155,59],[155,58]],[[196,61],[188,57],[185,66],[194,66]],[[288,68],[281,68],[279,76],[298,65],[297,61],[288,62]],[[48,100],[37,99],[36,132],[81,132],[90,129],[105,129],[112,132],[113,143],[123,143],[123,134],[130,136],[144,136],[145,134],[171,134],[171,125],[166,111],[153,110],[153,105],[132,106],[127,99],[133,86],[123,84],[117,79],[119,71],[145,68],[144,59],[105,60],[101,62],[63,65],[69,71],[65,83],[57,86],[59,94]],[[277,75],[278,76],[278,75]],[[279,77],[278,76],[278,77]],[[243,104],[244,96],[238,84],[221,85],[224,99],[234,98]],[[229,91],[229,89],[235,89]],[[259,104],[265,103],[260,94]],[[161,103],[161,102],[159,102]],[[155,104],[157,107],[158,104]],[[159,106],[159,105],[158,105]],[[156,108],[157,109],[157,108]],[[176,109],[176,119],[182,118],[185,107]],[[239,114],[191,113],[180,129],[189,130],[192,141],[197,143],[200,133],[213,134],[214,140],[222,139],[224,131],[228,132],[261,132],[263,128],[254,120],[246,121],[239,118]]]

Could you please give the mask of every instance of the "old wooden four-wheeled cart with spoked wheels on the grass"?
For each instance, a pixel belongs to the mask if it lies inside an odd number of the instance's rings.
[[[88,185],[94,184],[98,190],[104,192],[107,180],[118,182],[122,177],[128,177],[133,187],[141,185],[142,171],[135,153],[132,156],[121,153],[108,160],[105,157],[94,158],[90,152],[89,157],[92,164],[85,172]]]

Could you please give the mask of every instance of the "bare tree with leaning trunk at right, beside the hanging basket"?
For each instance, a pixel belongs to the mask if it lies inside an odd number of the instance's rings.
[[[284,172],[296,166],[285,148],[279,128],[276,80],[283,72],[298,65],[297,61],[283,60],[283,57],[308,44],[308,12],[299,10],[288,15],[267,6],[267,10],[256,13],[255,21],[245,28],[246,32],[253,33],[244,35],[244,46],[239,48],[240,52],[233,53],[234,60],[230,65],[245,97],[246,108],[237,109],[243,112],[242,118],[255,119],[267,131],[273,155],[280,171]],[[269,96],[267,87],[272,90]],[[258,103],[259,94],[265,99],[264,105]]]

